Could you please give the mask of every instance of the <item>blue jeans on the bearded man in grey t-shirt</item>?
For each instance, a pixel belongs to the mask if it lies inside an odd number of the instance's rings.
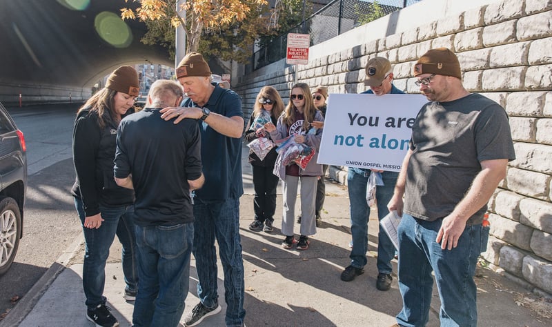
[[[477,288],[473,281],[477,258],[486,245],[486,230],[467,225],[452,250],[442,250],[435,239],[442,219],[424,221],[403,214],[399,235],[399,288],[403,308],[401,326],[426,326],[435,273],[441,299],[441,326],[477,326]]]

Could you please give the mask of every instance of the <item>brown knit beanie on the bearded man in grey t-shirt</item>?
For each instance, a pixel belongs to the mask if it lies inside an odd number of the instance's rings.
[[[453,76],[462,79],[460,62],[456,54],[447,48],[431,49],[426,52],[412,69],[416,77],[422,74]]]

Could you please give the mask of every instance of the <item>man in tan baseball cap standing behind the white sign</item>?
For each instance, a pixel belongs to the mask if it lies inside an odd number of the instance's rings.
[[[373,94],[378,97],[387,94],[404,94],[401,90],[395,88],[393,81],[393,69],[391,63],[383,57],[375,57],[366,63],[366,79],[364,84],[370,86],[370,90],[362,94]],[[387,203],[393,196],[393,190],[397,181],[398,172],[388,172],[375,169],[362,169],[349,167],[347,175],[347,185],[349,192],[349,204],[351,210],[351,265],[349,265],[341,274],[343,281],[352,281],[357,275],[364,273],[366,265],[366,250],[368,250],[368,217],[370,217],[370,207],[366,203],[366,186],[368,176],[371,172],[381,174],[384,185],[376,188],[377,218],[383,219],[389,211]],[[389,290],[391,288],[391,272],[393,266],[391,260],[395,256],[395,246],[391,239],[384,232],[380,225],[380,231],[377,234],[377,281],[378,290]]]

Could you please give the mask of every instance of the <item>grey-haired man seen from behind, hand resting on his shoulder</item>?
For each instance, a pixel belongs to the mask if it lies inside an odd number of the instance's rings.
[[[180,125],[159,119],[159,110],[178,106],[182,95],[176,81],[155,81],[146,108],[123,119],[117,130],[115,181],[136,191],[136,327],[178,326],[188,295],[194,220],[190,190],[204,183],[201,137],[193,119]]]

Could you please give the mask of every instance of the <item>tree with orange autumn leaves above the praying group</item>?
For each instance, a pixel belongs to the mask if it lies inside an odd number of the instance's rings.
[[[259,30],[266,28],[266,22],[262,17],[265,0],[188,0],[177,8],[177,0],[125,0],[126,8],[121,9],[123,19],[139,19],[146,22],[148,32],[144,43],[170,43],[174,44],[174,29],[184,26],[186,31],[186,51],[197,52],[206,47],[202,42],[202,35],[209,34],[214,37],[215,43],[226,46],[228,52],[246,46],[251,37],[255,39]],[[185,19],[183,17],[186,17]],[[257,26],[257,30],[255,30]],[[172,29],[172,32],[169,30]],[[246,32],[244,32],[246,31]],[[228,39],[217,37],[216,34],[224,33]],[[241,39],[239,36],[241,35]],[[205,40],[204,40],[205,41]],[[240,42],[241,41],[241,42]],[[253,44],[250,42],[249,47]],[[166,45],[166,44],[165,44]],[[174,48],[172,48],[174,54]],[[239,52],[237,52],[239,54]],[[232,56],[225,53],[228,59]],[[238,56],[239,57],[239,56]]]

